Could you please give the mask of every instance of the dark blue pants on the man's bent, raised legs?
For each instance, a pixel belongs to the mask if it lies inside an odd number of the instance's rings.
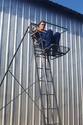
[[[44,39],[42,42],[43,44],[43,48],[49,47],[51,44],[57,44],[59,45],[59,41],[60,41],[60,33],[56,32],[55,34],[53,34],[52,30],[47,30],[46,32],[41,32],[40,36],[42,39]]]

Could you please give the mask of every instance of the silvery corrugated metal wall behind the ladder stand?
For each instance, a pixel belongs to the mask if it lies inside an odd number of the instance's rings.
[[[0,81],[23,37],[28,21],[38,22],[41,19],[68,28],[68,32],[61,36],[61,44],[69,46],[70,52],[52,62],[53,76],[63,125],[82,125],[83,23],[80,20],[28,2],[0,0]],[[54,29],[53,26],[48,27]],[[41,113],[33,103],[38,92],[29,34],[10,70],[29,92],[29,96],[8,73],[0,87],[0,125],[40,125]],[[39,105],[40,101],[37,103]]]

